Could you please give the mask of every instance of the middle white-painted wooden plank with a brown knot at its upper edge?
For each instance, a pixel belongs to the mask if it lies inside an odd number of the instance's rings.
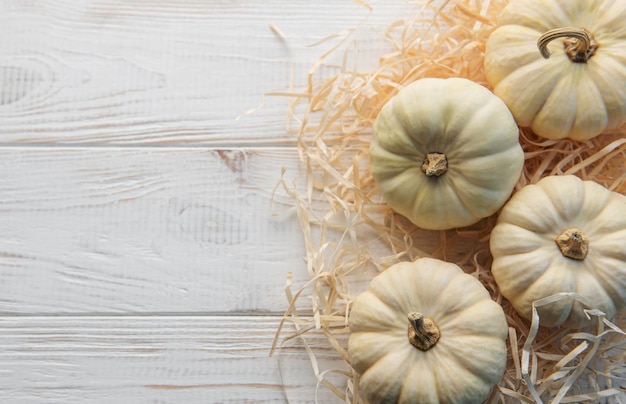
[[[283,312],[293,149],[0,148],[0,313]],[[276,215],[274,213],[277,213]]]

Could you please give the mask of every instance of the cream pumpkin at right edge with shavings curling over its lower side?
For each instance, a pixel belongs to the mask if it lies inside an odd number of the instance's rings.
[[[572,298],[538,309],[540,324],[593,324],[583,309],[608,318],[626,309],[626,197],[593,181],[550,176],[518,191],[491,233],[492,273],[528,319],[532,303],[560,292]]]

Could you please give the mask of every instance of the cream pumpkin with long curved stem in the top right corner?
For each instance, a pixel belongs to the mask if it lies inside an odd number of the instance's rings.
[[[626,122],[626,1],[511,0],[485,74],[520,126],[590,139]]]

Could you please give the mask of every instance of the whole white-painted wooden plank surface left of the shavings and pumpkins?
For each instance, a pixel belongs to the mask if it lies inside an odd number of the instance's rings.
[[[293,201],[270,203],[302,174],[288,99],[245,113],[333,33],[376,65],[418,6],[373,5],[0,0],[0,402],[315,400],[298,341],[269,357],[287,273],[308,279]]]

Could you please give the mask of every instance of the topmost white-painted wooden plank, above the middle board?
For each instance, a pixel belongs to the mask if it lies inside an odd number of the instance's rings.
[[[4,143],[292,143],[287,99],[357,27],[357,61],[389,51],[384,30],[418,8],[334,0],[0,2],[0,137]],[[272,30],[271,27],[277,27]],[[282,32],[284,37],[281,37]],[[322,66],[328,73],[341,53]]]

